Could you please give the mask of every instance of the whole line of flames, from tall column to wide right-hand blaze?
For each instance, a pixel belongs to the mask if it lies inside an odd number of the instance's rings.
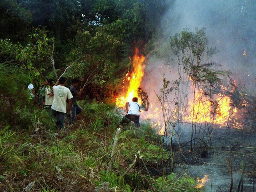
[[[124,92],[120,92],[118,97],[116,98],[116,106],[124,107],[125,103],[128,101],[132,101],[133,97],[138,97],[138,103],[141,103],[141,99],[138,96],[138,88],[140,87],[144,69],[145,69],[145,56],[139,53],[138,48],[135,49],[135,54],[132,60],[132,72],[128,72],[123,80],[124,84]],[[162,66],[160,66],[162,67]],[[192,80],[190,78],[190,80]],[[236,82],[233,81],[234,86],[236,86]],[[209,122],[213,124],[218,124],[218,126],[222,127],[225,124],[232,125],[235,128],[241,128],[242,126],[238,123],[238,120],[234,120],[234,117],[238,114],[238,110],[232,107],[232,100],[229,96],[226,96],[224,92],[228,90],[225,86],[221,87],[221,93],[213,96],[214,101],[209,100],[209,96],[206,96],[203,90],[199,90],[195,96],[195,102],[188,102],[188,108],[185,108],[184,111],[187,111],[184,114],[183,118],[176,116],[176,112],[174,111],[174,116],[172,120],[174,121],[182,121],[182,122],[198,122],[204,123]],[[234,89],[231,92],[234,92]],[[243,105],[246,106],[246,102],[243,102]],[[152,121],[152,128],[156,128],[158,130],[158,134],[164,134],[164,122],[162,117],[162,111],[172,110],[173,106],[159,106],[156,102],[150,103],[150,108],[147,113],[142,111],[141,118],[142,119],[150,119]],[[185,107],[185,106],[184,106]],[[193,110],[194,109],[194,110]],[[183,112],[182,112],[183,113]],[[232,120],[232,121],[231,121]]]

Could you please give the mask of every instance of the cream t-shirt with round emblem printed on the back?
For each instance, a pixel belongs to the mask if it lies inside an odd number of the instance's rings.
[[[52,87],[53,90],[53,102],[52,109],[58,112],[66,113],[66,100],[71,99],[73,96],[69,88],[57,85]]]

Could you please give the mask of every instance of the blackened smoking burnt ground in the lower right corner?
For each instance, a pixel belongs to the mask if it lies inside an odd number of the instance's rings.
[[[245,163],[243,184],[241,182],[239,191],[241,188],[243,188],[243,192],[256,191],[256,186],[254,189],[253,185],[253,164],[256,159],[256,134],[254,130],[215,128],[210,142],[207,142],[206,137],[203,141],[194,140],[195,146],[192,152],[190,152],[191,136],[189,132],[189,128],[184,128],[179,137],[179,145],[177,142],[174,144],[175,173],[187,173],[194,178],[198,176],[203,178],[204,175],[208,175],[210,181],[204,187],[205,191],[229,192],[231,184],[229,158],[232,164],[232,191],[238,191],[242,164]],[[198,137],[203,138],[202,132]],[[207,142],[207,145],[204,142]]]

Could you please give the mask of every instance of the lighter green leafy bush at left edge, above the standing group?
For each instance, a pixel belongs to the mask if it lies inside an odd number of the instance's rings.
[[[29,37],[26,46],[0,39],[0,58],[14,67],[19,66],[19,72],[27,75],[28,82],[37,80],[37,85],[41,85],[45,80],[42,74],[46,68],[52,68],[50,55],[53,39],[47,37],[44,29],[35,29]]]

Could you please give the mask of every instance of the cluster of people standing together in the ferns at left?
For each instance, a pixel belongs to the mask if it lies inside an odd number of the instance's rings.
[[[76,96],[81,96],[84,90],[81,88],[78,92],[79,80],[77,79],[72,80],[72,85],[69,88],[65,87],[65,83],[66,78],[64,77],[60,77],[56,85],[54,85],[52,79],[49,79],[41,89],[39,97],[36,95],[34,85],[32,83],[28,85],[31,97],[39,99],[39,102],[41,102],[43,106],[48,106],[51,109],[53,117],[57,120],[57,124],[62,129],[65,127],[67,112],[70,113],[69,124],[72,124],[76,116],[82,112],[82,108],[76,102]],[[68,108],[66,107],[67,102]]]

